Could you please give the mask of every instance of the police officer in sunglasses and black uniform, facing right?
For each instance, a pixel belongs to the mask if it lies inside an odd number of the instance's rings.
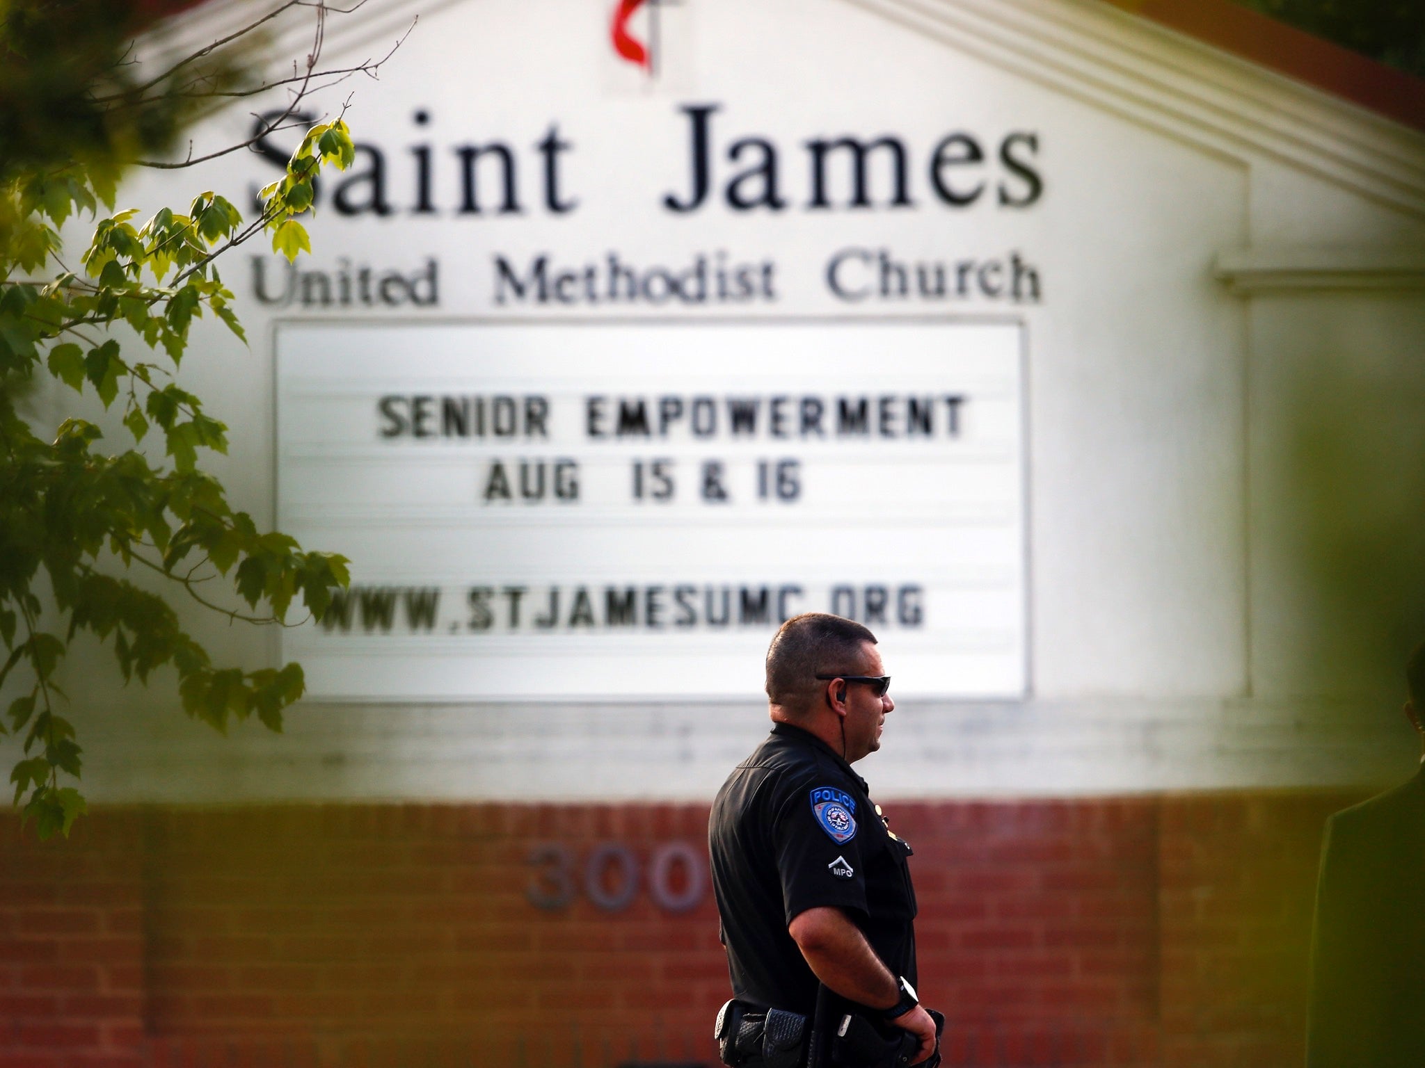
[[[911,847],[851,770],[881,748],[889,685],[861,624],[782,624],[767,652],[772,732],[718,792],[708,846],[735,998],[812,1018],[824,987],[838,1018],[915,1035],[921,1064],[936,1028],[915,994]]]

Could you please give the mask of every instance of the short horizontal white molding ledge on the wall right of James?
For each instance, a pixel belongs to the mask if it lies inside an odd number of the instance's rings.
[[[1226,249],[1213,273],[1241,296],[1304,289],[1425,289],[1425,249]]]

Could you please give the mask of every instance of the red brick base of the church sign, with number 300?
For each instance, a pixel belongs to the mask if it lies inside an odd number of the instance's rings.
[[[1298,1064],[1321,823],[1354,799],[886,806],[949,1062]],[[0,1068],[714,1062],[705,822],[111,809],[40,844],[7,820]]]

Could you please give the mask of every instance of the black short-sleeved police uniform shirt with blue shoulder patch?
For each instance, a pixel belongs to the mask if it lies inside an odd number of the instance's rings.
[[[892,974],[916,983],[911,847],[815,735],[777,723],[737,766],[712,802],[708,852],[738,1000],[811,1015],[817,977],[787,927],[819,906],[844,910]]]

